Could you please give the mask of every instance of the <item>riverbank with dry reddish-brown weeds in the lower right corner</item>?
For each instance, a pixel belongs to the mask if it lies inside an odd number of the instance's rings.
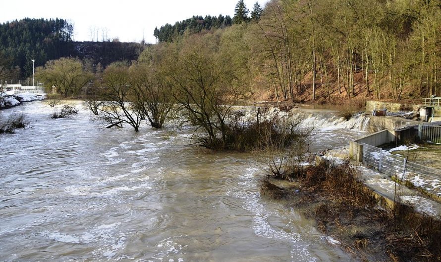
[[[357,173],[348,163],[323,162],[303,169],[295,182],[263,179],[261,188],[303,210],[332,245],[362,261],[440,261],[439,218],[410,205],[391,206]]]

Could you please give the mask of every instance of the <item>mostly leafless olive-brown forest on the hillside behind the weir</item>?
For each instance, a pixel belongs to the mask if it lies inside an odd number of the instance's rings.
[[[68,38],[69,27],[61,31]],[[110,66],[147,68],[149,83],[170,89],[216,86],[252,100],[419,99],[441,94],[440,32],[441,0],[271,0],[251,9],[239,0],[233,18],[193,16],[156,28],[157,44]],[[54,66],[37,69],[47,86]],[[85,86],[103,85],[102,64],[81,71]]]

